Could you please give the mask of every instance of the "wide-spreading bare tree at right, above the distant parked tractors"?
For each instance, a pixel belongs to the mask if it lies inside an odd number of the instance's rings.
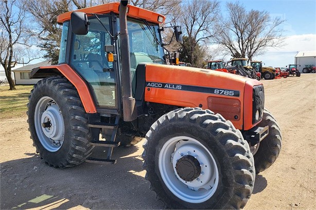
[[[265,52],[267,47],[280,47],[283,44],[279,26],[280,18],[272,18],[266,11],[246,11],[239,2],[227,3],[227,18],[221,18],[217,25],[220,33],[214,41],[222,45],[234,58],[245,58]]]

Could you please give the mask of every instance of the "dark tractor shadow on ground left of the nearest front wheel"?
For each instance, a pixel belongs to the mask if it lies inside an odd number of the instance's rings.
[[[0,208],[160,209],[143,177],[143,163],[133,155],[138,147],[116,148],[114,156],[122,158],[115,165],[56,169],[36,154],[1,163]]]

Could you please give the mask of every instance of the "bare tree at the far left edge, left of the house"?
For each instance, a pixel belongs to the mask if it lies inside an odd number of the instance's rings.
[[[30,53],[31,45],[29,44],[30,36],[26,31],[26,15],[24,5],[18,5],[16,0],[4,0],[0,3],[0,63],[5,69],[10,90],[15,90],[15,84],[11,76],[12,67],[24,64],[38,58],[34,58]],[[16,9],[16,12],[13,12]]]

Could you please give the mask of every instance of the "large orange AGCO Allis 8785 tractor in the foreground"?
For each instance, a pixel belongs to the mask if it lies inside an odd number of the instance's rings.
[[[164,20],[128,1],[59,15],[59,64],[31,72],[42,79],[27,105],[33,145],[47,164],[64,168],[113,164],[120,143],[146,138],[145,178],[166,206],[243,208],[255,174],[281,148],[264,86],[166,65]],[[180,27],[173,28],[181,41]]]

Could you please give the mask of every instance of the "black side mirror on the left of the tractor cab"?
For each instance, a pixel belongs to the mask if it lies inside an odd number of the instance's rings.
[[[73,32],[77,35],[85,35],[89,30],[88,17],[84,12],[73,12],[71,14],[71,25]]]

